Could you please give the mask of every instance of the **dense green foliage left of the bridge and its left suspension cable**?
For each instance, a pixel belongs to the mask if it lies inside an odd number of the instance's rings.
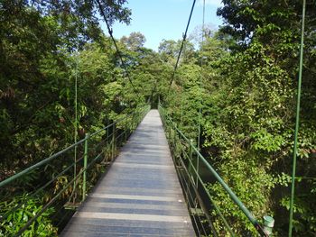
[[[80,3],[81,2],[81,3]],[[129,23],[130,11],[122,1],[100,1],[111,14],[109,23]],[[96,132],[133,110],[135,96],[123,98],[123,69],[113,43],[98,26],[95,1],[1,1],[0,3],[0,180],[30,167],[51,154]],[[78,68],[78,70],[77,70]],[[78,73],[77,73],[78,71]],[[78,80],[78,117],[75,131],[75,80]],[[101,140],[101,137],[99,137]],[[73,161],[65,154],[36,169],[30,176],[1,188],[1,217],[25,199],[26,194],[60,174]],[[79,152],[76,159],[79,159]],[[77,167],[79,171],[80,167]],[[92,172],[93,174],[93,172]],[[1,222],[1,235],[12,236],[65,187],[70,177],[62,176],[33,196]],[[94,178],[89,179],[92,183]],[[80,184],[79,184],[80,185]],[[67,190],[67,192],[71,192]],[[60,206],[69,193],[60,197]],[[14,197],[15,196],[15,197]],[[60,206],[56,210],[60,210]],[[60,216],[49,208],[25,236],[57,233]],[[55,218],[52,220],[52,218]],[[58,221],[56,222],[56,219]],[[53,223],[54,222],[54,223]]]

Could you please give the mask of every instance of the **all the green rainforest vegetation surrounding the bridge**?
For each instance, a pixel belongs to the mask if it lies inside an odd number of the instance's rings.
[[[274,236],[286,236],[302,1],[223,0],[217,14],[224,24],[219,30],[211,23],[194,29],[173,80],[181,40],[164,39],[158,51],[146,49],[139,29],[116,39],[118,53],[108,33],[102,32],[97,17],[101,9],[110,25],[130,23],[132,13],[125,2],[1,1],[0,180],[70,146],[75,134],[78,141],[85,132],[98,131],[148,100],[153,108],[160,100],[181,123],[182,132],[197,143],[202,95],[201,152],[251,213],[274,217]],[[293,236],[316,234],[314,0],[307,1],[304,37]],[[49,180],[62,166],[51,164],[42,178]],[[208,187],[237,236],[254,231],[218,183]],[[28,188],[24,183],[15,193],[10,191],[17,200]],[[36,213],[50,195],[31,199],[28,212]],[[6,210],[8,201],[1,198],[0,209]],[[226,236],[213,214],[219,235]],[[43,225],[51,224],[49,215]],[[0,232],[4,230],[3,223]],[[57,231],[51,224],[52,233]]]

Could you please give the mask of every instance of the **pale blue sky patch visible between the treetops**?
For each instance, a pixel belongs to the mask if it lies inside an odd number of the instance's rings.
[[[131,32],[141,32],[146,38],[144,47],[158,51],[160,42],[164,40],[182,40],[185,32],[193,0],[127,0],[124,5],[132,11],[132,21],[126,26],[122,23],[114,23],[113,36],[117,40],[122,36],[128,37]],[[205,0],[205,23],[212,23],[215,28],[222,24],[222,20],[216,15],[217,8],[221,6],[221,0]],[[203,23],[203,0],[196,0],[191,16],[188,36],[194,28]],[[107,33],[107,27],[102,29]]]

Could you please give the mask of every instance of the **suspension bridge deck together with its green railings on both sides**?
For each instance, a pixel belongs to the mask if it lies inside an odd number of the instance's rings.
[[[74,150],[77,157],[71,162]],[[34,170],[44,173],[51,162],[60,161],[64,169],[57,176],[45,184],[35,180],[39,187],[0,217],[9,226],[18,216],[25,220],[13,236],[27,236],[34,229],[39,236],[218,236],[211,210],[235,236],[200,176],[201,164],[226,189],[249,225],[261,236],[272,232],[273,218],[256,220],[161,105],[159,113],[145,105],[6,179],[0,183],[1,196],[32,177]],[[37,212],[26,210],[36,196],[53,187],[54,196]],[[52,221],[45,223],[47,216]]]

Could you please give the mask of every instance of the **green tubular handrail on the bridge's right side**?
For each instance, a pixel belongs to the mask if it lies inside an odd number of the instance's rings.
[[[255,226],[256,231],[260,233],[261,236],[269,236],[271,234],[271,226],[265,226],[261,223],[259,223],[256,218],[254,217],[253,214],[251,214],[249,212],[249,210],[246,208],[246,206],[239,200],[239,198],[234,194],[234,192],[228,187],[228,185],[224,182],[224,180],[222,178],[220,178],[220,176],[218,175],[218,173],[215,171],[215,169],[213,169],[210,165],[209,162],[200,154],[200,151],[194,147],[194,145],[191,143],[191,141],[177,128],[176,124],[173,123],[171,117],[164,111],[163,106],[162,105],[158,105],[158,109],[160,114],[162,115],[163,118],[163,125],[164,126],[172,126],[172,129],[174,130],[174,132],[177,132],[181,138],[184,141],[187,141],[188,144],[190,145],[190,149],[194,150],[194,152],[196,153],[197,157],[204,163],[204,165],[209,169],[209,171],[212,173],[212,175],[218,180],[218,182],[220,183],[220,185],[222,187],[224,187],[224,189],[226,190],[226,192],[228,193],[228,195],[231,197],[231,199],[237,204],[237,206],[239,207],[239,209],[246,215],[246,218]],[[166,122],[168,121],[168,122]],[[169,123],[169,124],[167,124]],[[191,163],[191,160],[189,160]],[[220,213],[220,210],[218,208],[218,205],[215,204],[215,202],[212,200],[212,197],[209,194],[209,191],[207,190],[207,187],[205,187],[202,179],[199,176],[199,171],[197,169],[194,168],[194,166],[191,163],[191,167],[193,168],[195,175],[197,176],[197,179],[200,181],[200,184],[203,186],[203,188],[205,189],[205,191],[207,192],[207,195],[209,196],[210,201],[212,202],[212,204],[215,206],[216,211],[218,212],[218,215],[220,216],[220,218],[222,219],[222,221],[224,222],[225,226],[228,229],[228,232],[230,232],[230,234],[232,236],[235,236],[234,233],[230,230],[230,227],[228,226],[228,223],[226,222],[224,216]],[[265,215],[264,218],[269,219],[269,220],[273,220],[272,217]],[[274,220],[273,220],[274,221]],[[264,222],[265,223],[265,222]],[[271,225],[271,224],[270,224]],[[270,229],[267,229],[270,228]]]

